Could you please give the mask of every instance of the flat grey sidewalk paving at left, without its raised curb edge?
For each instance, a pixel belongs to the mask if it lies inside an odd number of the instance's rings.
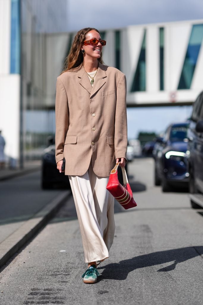
[[[61,190],[42,190],[38,170],[0,183],[0,243],[39,212]]]

